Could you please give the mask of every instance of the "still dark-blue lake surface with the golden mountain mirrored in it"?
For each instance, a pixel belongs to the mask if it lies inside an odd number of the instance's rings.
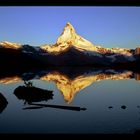
[[[8,104],[1,105],[0,133],[134,133],[140,129],[138,77],[132,71],[110,69],[44,70],[2,77],[0,93]],[[15,94],[20,86],[49,90],[53,96],[28,102],[31,91],[26,99],[21,91]]]

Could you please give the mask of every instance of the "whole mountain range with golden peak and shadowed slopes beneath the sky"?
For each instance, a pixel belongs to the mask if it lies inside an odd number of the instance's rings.
[[[3,49],[18,51],[24,58],[27,56],[34,62],[48,66],[110,66],[134,63],[140,54],[139,48],[134,50],[96,46],[78,35],[69,22],[53,45],[33,47],[6,41],[0,43],[0,53]]]

